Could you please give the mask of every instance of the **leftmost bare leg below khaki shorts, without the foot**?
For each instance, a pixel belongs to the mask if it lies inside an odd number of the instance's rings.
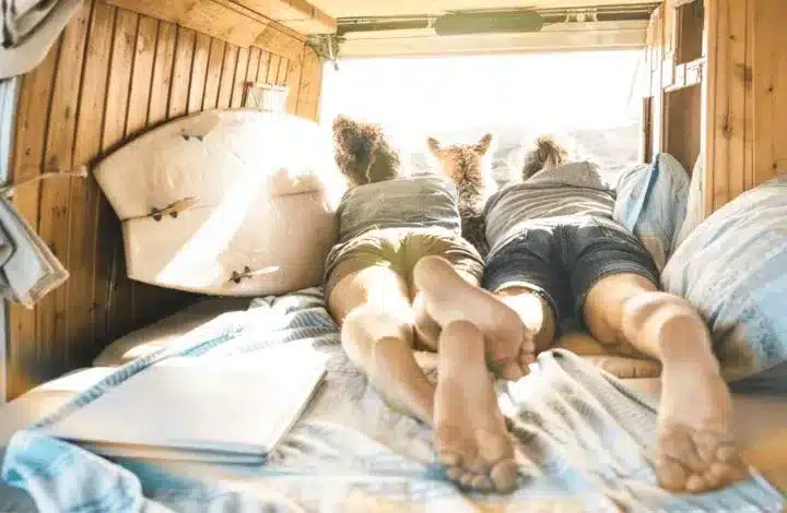
[[[413,311],[404,281],[367,267],[342,278],[328,298],[348,357],[391,406],[433,423],[434,384],[413,357]]]

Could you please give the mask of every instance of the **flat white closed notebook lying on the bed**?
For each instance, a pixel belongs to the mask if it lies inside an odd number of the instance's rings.
[[[164,360],[45,431],[106,456],[262,463],[326,372],[310,345]]]

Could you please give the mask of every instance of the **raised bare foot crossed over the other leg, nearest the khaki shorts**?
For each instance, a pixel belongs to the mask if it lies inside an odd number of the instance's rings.
[[[481,330],[486,361],[495,373],[507,380],[527,374],[536,346],[514,310],[486,290],[467,283],[439,256],[421,259],[413,278],[425,296],[426,311],[438,324],[469,321]]]

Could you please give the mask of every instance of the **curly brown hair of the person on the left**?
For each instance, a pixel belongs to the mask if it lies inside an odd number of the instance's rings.
[[[401,175],[399,154],[379,124],[339,116],[333,120],[333,151],[350,187],[390,180]]]

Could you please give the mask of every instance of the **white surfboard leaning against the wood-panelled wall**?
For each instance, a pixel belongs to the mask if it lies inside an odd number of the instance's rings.
[[[330,131],[313,121],[200,112],[129,142],[94,174],[121,220],[131,279],[222,296],[322,282],[345,182]]]

